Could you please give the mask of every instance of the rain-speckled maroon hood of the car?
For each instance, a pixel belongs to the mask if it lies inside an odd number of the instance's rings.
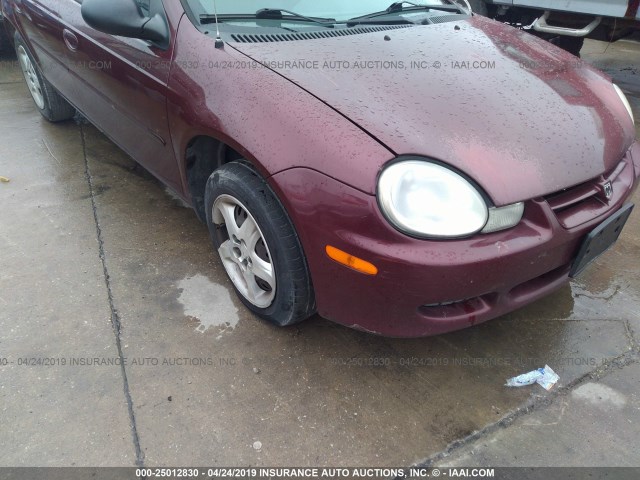
[[[621,160],[635,137],[607,77],[482,17],[232,45],[396,155],[421,155],[464,172],[496,205],[595,178]],[[342,180],[375,192],[375,179]]]

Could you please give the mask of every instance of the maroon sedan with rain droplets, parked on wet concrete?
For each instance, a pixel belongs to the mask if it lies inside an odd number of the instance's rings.
[[[79,110],[189,202],[278,325],[473,325],[579,274],[632,209],[621,90],[454,2],[1,1],[40,112]]]

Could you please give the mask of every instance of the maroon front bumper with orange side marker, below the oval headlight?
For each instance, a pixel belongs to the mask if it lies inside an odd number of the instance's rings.
[[[419,337],[495,318],[566,283],[584,237],[637,186],[640,144],[624,161],[608,208],[577,226],[563,226],[547,200],[538,198],[527,202],[518,226],[455,241],[402,235],[384,219],[375,197],[312,170],[279,173],[271,184],[300,235],[318,313],[371,333]],[[345,268],[325,254],[327,245],[373,263],[379,273]]]

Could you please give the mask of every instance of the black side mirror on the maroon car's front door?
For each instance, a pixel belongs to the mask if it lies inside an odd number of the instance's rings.
[[[162,48],[169,46],[169,26],[164,16],[145,16],[136,0],[84,0],[81,12],[84,21],[100,32],[149,40]]]

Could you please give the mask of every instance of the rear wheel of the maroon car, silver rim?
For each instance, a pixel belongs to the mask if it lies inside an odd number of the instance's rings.
[[[14,40],[18,63],[38,111],[50,122],[61,122],[73,118],[76,109],[44,78],[29,48],[17,32]]]

